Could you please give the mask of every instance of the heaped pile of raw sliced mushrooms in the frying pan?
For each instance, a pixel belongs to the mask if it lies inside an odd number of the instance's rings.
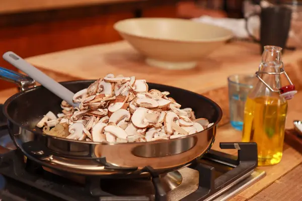
[[[106,75],[73,96],[79,108],[64,100],[62,113],[49,111],[37,127],[43,133],[72,140],[127,143],[169,140],[209,128],[194,122],[191,108],[180,109],[168,91],[148,89],[143,79]]]

